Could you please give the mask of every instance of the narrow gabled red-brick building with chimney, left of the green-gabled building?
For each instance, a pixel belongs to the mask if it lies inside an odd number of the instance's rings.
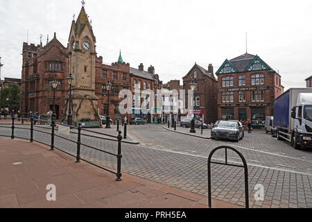
[[[196,119],[205,123],[214,123],[217,120],[217,80],[214,76],[214,67],[209,64],[208,70],[196,64],[183,77],[183,89],[185,97],[188,98],[189,83],[194,81],[196,88],[193,92],[193,112]],[[189,111],[191,112],[191,111]]]

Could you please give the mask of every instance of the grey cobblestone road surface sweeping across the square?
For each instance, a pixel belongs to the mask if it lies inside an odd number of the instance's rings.
[[[103,129],[104,130],[104,129]],[[16,135],[29,138],[29,131],[16,129]],[[207,195],[207,156],[220,145],[238,148],[248,162],[250,207],[312,207],[312,151],[294,150],[262,132],[245,134],[240,142],[214,141],[164,130],[160,125],[129,126],[128,132],[141,144],[122,144],[122,171],[166,185]],[[0,128],[0,135],[10,135],[10,128]],[[63,135],[62,135],[63,136]],[[66,136],[64,136],[66,137]],[[50,144],[48,134],[35,132],[34,138]],[[76,140],[76,135],[70,137]],[[82,137],[84,144],[116,153],[116,142]],[[76,154],[76,144],[55,139],[55,146]],[[229,160],[240,162],[229,152]],[[116,169],[116,157],[82,146],[81,156]],[[223,153],[216,153],[223,159]],[[212,196],[244,205],[243,169],[213,165]],[[255,201],[254,186],[264,187],[264,200]]]

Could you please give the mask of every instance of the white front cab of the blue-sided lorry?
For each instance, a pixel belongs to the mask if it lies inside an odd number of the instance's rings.
[[[297,104],[291,108],[293,133],[291,143],[295,148],[312,147],[312,93],[300,93]]]

